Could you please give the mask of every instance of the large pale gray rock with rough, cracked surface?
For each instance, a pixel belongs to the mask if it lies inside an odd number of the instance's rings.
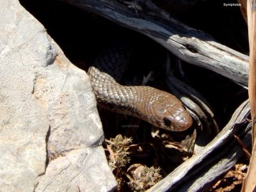
[[[17,0],[0,1],[0,83],[0,191],[115,188],[88,76]]]

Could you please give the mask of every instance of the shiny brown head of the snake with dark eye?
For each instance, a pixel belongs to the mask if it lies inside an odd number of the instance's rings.
[[[185,131],[193,123],[180,100],[170,93],[164,92],[154,100],[151,109],[155,114],[152,124],[168,131]]]

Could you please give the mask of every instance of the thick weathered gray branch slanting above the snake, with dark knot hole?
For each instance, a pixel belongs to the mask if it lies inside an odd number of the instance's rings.
[[[248,85],[248,56],[218,44],[214,38],[172,19],[152,4],[129,8],[113,0],[65,0],[74,6],[149,36],[181,60],[207,68],[243,86]],[[150,2],[150,1],[146,1]],[[152,6],[151,6],[152,7]]]

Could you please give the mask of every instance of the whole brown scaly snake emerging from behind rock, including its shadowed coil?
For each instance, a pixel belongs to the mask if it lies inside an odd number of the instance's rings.
[[[168,131],[188,129],[193,120],[177,97],[151,86],[119,83],[129,66],[129,58],[131,48],[127,45],[108,47],[88,68],[97,104]]]

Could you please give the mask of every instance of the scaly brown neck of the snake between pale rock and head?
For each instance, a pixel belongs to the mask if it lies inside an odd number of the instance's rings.
[[[97,103],[111,111],[126,115],[140,116],[145,112],[145,99],[147,93],[141,92],[141,86],[122,86],[108,74],[96,67],[90,67],[88,75],[92,83]],[[148,94],[149,95],[149,94]]]

